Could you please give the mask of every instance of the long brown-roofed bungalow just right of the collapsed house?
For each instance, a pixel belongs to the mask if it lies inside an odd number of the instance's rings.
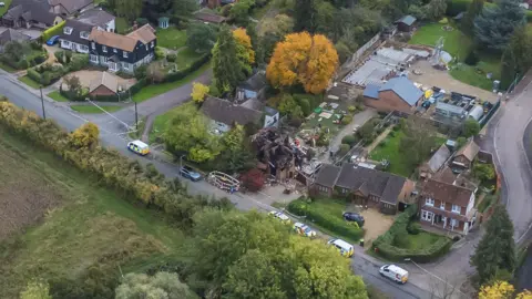
[[[354,204],[378,208],[382,214],[415,204],[412,181],[356,164],[346,163],[341,167],[323,165],[309,192],[328,197],[347,197]]]

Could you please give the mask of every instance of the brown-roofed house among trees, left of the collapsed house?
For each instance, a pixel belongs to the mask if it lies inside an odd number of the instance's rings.
[[[205,99],[202,112],[212,121],[211,127],[215,134],[228,132],[235,124],[259,124],[263,117],[263,112],[258,110],[214,96]]]

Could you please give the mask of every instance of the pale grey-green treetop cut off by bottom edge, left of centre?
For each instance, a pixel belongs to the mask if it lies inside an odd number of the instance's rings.
[[[156,299],[196,299],[200,298],[181,282],[177,274],[157,272],[127,274],[116,288],[116,299],[156,298]]]

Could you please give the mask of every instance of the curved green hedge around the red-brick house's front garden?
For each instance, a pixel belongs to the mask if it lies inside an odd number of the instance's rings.
[[[447,254],[451,248],[452,241],[449,238],[442,238],[430,247],[421,250],[411,250],[393,246],[397,235],[408,234],[407,227],[418,212],[417,205],[408,207],[402,214],[397,216],[390,229],[380,235],[372,244],[374,250],[386,259],[402,261],[410,258],[418,262],[429,262]]]

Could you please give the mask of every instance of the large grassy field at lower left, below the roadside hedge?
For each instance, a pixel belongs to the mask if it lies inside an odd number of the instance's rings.
[[[119,276],[119,265],[124,272],[137,271],[178,255],[184,235],[162,214],[136,207],[47,151],[0,133],[0,228],[18,231],[4,243],[0,235],[0,298],[18,298],[34,278],[75,279],[95,265]],[[38,207],[41,215],[34,215]]]

